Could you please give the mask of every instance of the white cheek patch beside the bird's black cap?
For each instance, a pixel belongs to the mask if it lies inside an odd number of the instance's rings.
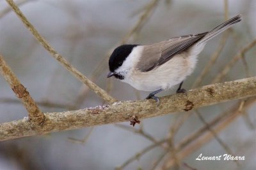
[[[141,53],[143,52],[143,46],[136,46],[132,49],[132,52],[128,55],[128,57],[124,60],[122,66],[118,67],[115,70],[116,73],[120,73],[122,75],[129,74],[129,71],[134,69],[134,66],[138,63],[140,59]]]

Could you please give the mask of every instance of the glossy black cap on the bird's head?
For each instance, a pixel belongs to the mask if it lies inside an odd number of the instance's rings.
[[[109,70],[114,72],[115,69],[122,66],[124,60],[132,52],[132,48],[138,45],[121,45],[118,46],[109,58]]]

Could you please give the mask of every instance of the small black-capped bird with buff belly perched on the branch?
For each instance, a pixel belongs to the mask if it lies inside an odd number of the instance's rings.
[[[240,21],[241,15],[237,15],[209,32],[170,38],[152,45],[118,46],[109,58],[108,78],[115,76],[137,90],[154,91],[146,99],[155,99],[159,104],[155,94],[162,90],[179,84],[177,93],[186,92],[181,89],[182,83],[195,69],[205,43]]]

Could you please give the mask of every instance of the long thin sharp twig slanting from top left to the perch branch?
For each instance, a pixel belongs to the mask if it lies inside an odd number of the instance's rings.
[[[107,92],[98,87],[95,83],[90,81],[86,76],[84,76],[81,72],[79,72],[75,67],[73,67],[65,58],[63,58],[51,45],[36,31],[35,27],[28,21],[28,19],[23,15],[22,11],[20,11],[19,7],[13,2],[13,0],[6,0],[8,4],[12,7],[13,11],[17,14],[20,20],[26,25],[26,27],[31,31],[33,36],[40,42],[42,46],[44,46],[45,50],[51,53],[54,59],[58,60],[62,66],[64,66],[70,73],[72,73],[78,80],[87,85],[91,90],[93,90],[97,95],[102,97],[105,101],[109,103],[113,103],[116,101],[113,97],[109,96]]]

